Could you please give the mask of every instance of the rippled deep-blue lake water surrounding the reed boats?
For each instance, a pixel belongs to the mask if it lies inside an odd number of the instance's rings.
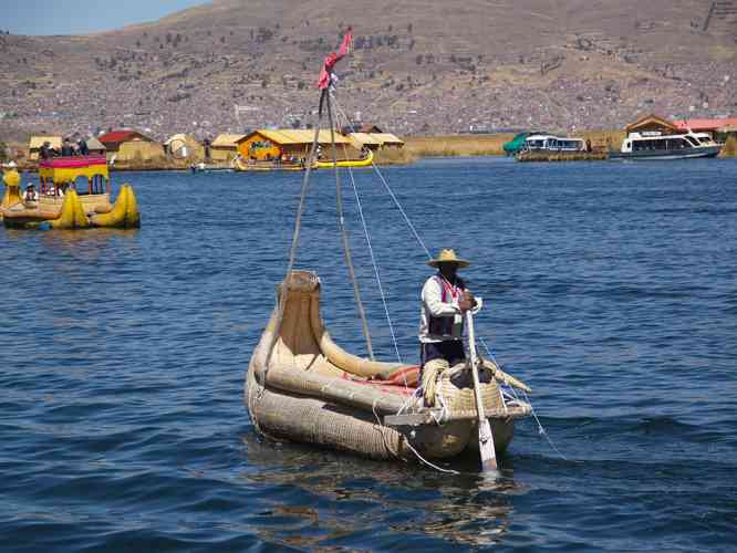
[[[494,483],[258,437],[243,375],[283,276],[301,175],[117,174],[138,231],[0,230],[0,551],[734,551],[737,163],[426,160],[385,175],[485,298],[477,331],[527,382]],[[399,353],[423,249],[356,173]],[[396,357],[349,180],[380,355]],[[315,175],[298,265],[365,352]]]

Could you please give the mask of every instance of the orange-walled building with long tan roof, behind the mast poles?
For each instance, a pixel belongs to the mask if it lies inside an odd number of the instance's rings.
[[[355,148],[342,134],[334,133],[338,159],[351,159],[356,157]],[[238,155],[242,159],[253,161],[271,161],[293,157],[307,159],[310,155],[310,147],[314,140],[313,129],[266,129],[259,128],[247,134],[238,140]],[[329,152],[332,144],[331,132],[320,129],[318,134],[318,145],[320,146],[319,157],[330,159],[332,154]],[[342,147],[341,147],[342,146]]]

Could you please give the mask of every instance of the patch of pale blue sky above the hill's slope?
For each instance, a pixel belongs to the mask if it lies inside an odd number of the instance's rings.
[[[13,34],[84,34],[154,21],[206,0],[0,0],[0,29]]]

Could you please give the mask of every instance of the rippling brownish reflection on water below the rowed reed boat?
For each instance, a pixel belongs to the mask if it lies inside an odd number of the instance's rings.
[[[470,472],[449,474],[273,442],[252,432],[242,442],[249,466],[242,477],[261,489],[280,490],[273,494],[277,504],[260,512],[252,528],[270,543],[350,546],[364,532],[391,530],[489,546],[511,523],[511,497],[526,492],[510,478],[473,472],[475,465]],[[281,494],[290,507],[280,504]],[[401,538],[395,534],[395,540],[398,545]]]

